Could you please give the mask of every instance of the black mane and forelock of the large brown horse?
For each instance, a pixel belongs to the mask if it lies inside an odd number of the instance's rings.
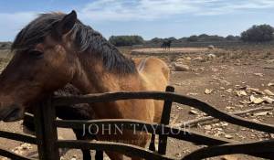
[[[45,37],[52,34],[53,24],[60,21],[64,16],[65,14],[61,13],[39,15],[17,34],[11,49],[28,50],[35,48],[38,43],[44,41]],[[90,54],[90,56],[101,59],[107,70],[121,74],[136,72],[137,69],[132,59],[126,58],[98,31],[84,25],[79,20],[72,28],[71,35],[80,53]]]

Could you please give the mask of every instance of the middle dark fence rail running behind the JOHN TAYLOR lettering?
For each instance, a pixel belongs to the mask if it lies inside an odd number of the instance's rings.
[[[198,133],[194,131],[188,131],[187,129],[178,129],[172,128],[168,125],[162,125],[157,123],[146,123],[137,120],[128,120],[128,119],[110,119],[110,120],[90,120],[90,121],[73,121],[73,120],[57,120],[57,126],[61,128],[73,128],[73,129],[82,129],[83,125],[98,125],[101,124],[110,124],[114,126],[114,124],[118,127],[124,127],[125,129],[136,129],[138,131],[142,131],[142,127],[145,126],[149,133],[160,134],[162,132],[166,133],[164,135],[168,137],[172,137],[179,140],[184,140],[188,142],[192,142],[195,144],[205,144],[205,145],[219,145],[219,144],[227,144],[227,143],[238,143],[237,141],[228,140],[225,138],[219,138],[211,135],[207,135],[204,133]],[[163,129],[163,131],[162,131]]]

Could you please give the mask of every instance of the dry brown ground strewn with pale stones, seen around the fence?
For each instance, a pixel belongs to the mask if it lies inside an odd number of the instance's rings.
[[[136,50],[135,50],[136,51]],[[170,54],[164,51],[157,57],[165,60],[171,67],[171,85],[180,94],[195,97],[225,112],[240,112],[250,109],[262,109],[250,112],[242,117],[255,122],[274,124],[274,53],[273,48],[237,48],[237,49],[202,49],[196,52]],[[177,51],[177,50],[176,50]],[[131,49],[122,49],[130,54]],[[150,54],[133,54],[133,57],[147,57]],[[6,60],[2,59],[0,67]],[[205,113],[174,103],[171,125],[178,126],[189,120],[205,117]],[[0,129],[11,132],[22,132],[21,122],[1,123]],[[273,138],[272,134],[250,130],[231,123],[207,121],[193,125],[192,130],[241,142]],[[61,131],[70,137],[70,131]],[[67,138],[63,136],[63,138]],[[0,147],[9,148],[26,155],[36,148],[29,144],[0,139]],[[168,155],[183,157],[201,146],[170,139]],[[79,151],[72,150],[64,159],[80,159]],[[213,159],[256,159],[247,155],[221,156]]]

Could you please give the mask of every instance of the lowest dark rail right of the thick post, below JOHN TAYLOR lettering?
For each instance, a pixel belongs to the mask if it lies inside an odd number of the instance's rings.
[[[58,146],[60,148],[75,148],[75,149],[90,149],[90,150],[102,150],[118,152],[124,155],[137,156],[145,159],[161,159],[161,160],[173,160],[174,158],[166,155],[159,155],[153,151],[146,150],[145,148],[122,143],[111,143],[111,142],[87,142],[87,141],[75,141],[75,140],[59,140]]]

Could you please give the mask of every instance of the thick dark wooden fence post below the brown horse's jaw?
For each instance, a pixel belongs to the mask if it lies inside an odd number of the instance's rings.
[[[59,160],[56,111],[52,98],[35,106],[37,148],[40,160]]]

